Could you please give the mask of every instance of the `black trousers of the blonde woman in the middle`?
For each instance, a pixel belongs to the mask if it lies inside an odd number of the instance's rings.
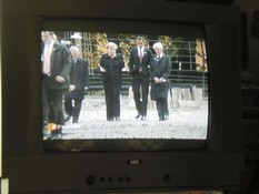
[[[120,118],[120,83],[104,82],[107,120]]]

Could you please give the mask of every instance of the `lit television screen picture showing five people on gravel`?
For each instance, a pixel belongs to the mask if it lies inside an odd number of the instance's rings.
[[[190,144],[193,143],[205,145],[209,121],[209,75],[202,33],[190,38],[92,31],[42,31],[42,34],[46,32],[53,34],[53,44],[61,44],[67,49],[64,53],[70,54],[63,53],[61,58],[68,61],[70,58],[71,61],[67,73],[70,83],[62,90],[64,122],[60,124],[60,130],[57,130],[59,124],[51,121],[51,109],[60,102],[48,99],[50,105],[46,113],[46,99],[42,98],[42,139],[47,150],[160,151],[192,149]],[[44,38],[41,39],[43,67],[46,44]],[[137,68],[138,72],[133,73],[137,64],[132,58],[138,39],[145,48],[142,59],[146,58],[146,61],[142,63],[147,63],[140,67],[147,65],[147,70],[141,69],[141,72]],[[110,57],[110,44],[114,59]],[[58,53],[56,45],[52,47],[51,62]],[[160,58],[158,61],[159,49],[162,50],[162,60],[168,59],[168,64],[160,62]],[[158,70],[159,64],[163,65],[161,70]],[[159,71],[160,75],[156,74]],[[147,82],[140,81],[141,74]],[[57,81],[57,75],[52,78],[52,73],[43,73],[42,88],[46,88],[46,78]],[[165,79],[161,84],[166,88],[156,91],[156,76]],[[81,94],[76,94],[79,93],[79,85]],[[51,86],[50,92],[54,90]],[[156,99],[157,94],[162,96]]]

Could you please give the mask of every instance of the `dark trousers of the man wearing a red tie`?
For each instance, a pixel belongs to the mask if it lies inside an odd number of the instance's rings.
[[[146,116],[148,106],[149,78],[145,75],[133,76],[132,91],[138,113]]]

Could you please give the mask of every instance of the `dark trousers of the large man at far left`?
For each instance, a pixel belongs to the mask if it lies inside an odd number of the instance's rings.
[[[63,125],[63,90],[50,90],[43,85],[42,110],[44,122]]]

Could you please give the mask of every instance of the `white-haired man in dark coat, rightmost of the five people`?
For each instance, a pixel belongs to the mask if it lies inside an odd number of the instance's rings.
[[[159,121],[165,121],[169,116],[168,91],[171,61],[168,55],[163,54],[161,42],[156,42],[153,49],[156,58],[150,64],[151,100],[157,103]]]

